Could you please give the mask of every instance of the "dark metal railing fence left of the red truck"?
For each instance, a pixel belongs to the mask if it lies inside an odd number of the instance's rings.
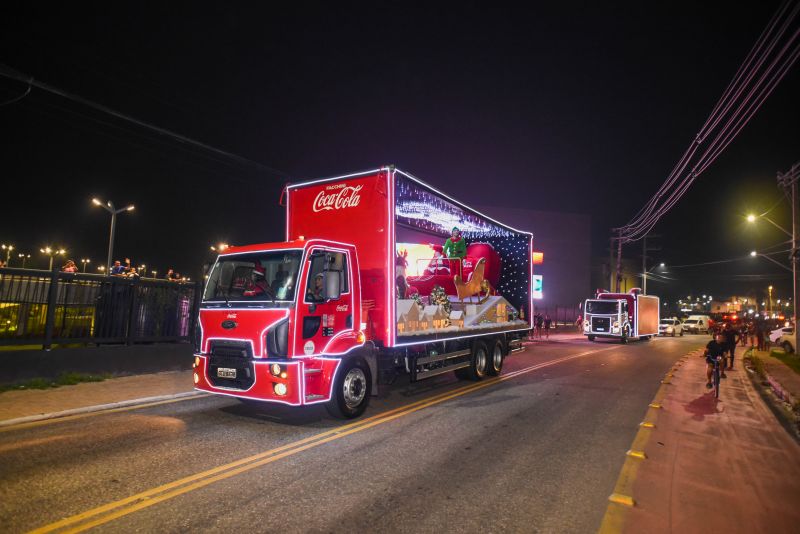
[[[200,283],[0,269],[0,345],[189,341]]]

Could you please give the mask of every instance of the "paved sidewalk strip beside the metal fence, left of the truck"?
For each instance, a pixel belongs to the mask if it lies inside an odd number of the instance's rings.
[[[193,390],[192,371],[168,371],[53,389],[5,391],[0,393],[0,424],[21,418],[47,418],[60,412],[137,399],[169,397]]]

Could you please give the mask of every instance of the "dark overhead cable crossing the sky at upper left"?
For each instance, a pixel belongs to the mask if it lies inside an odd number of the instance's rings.
[[[158,134],[160,134],[162,136],[168,137],[168,138],[172,139],[173,141],[177,141],[179,143],[182,143],[184,145],[188,145],[188,146],[191,146],[191,147],[194,147],[194,148],[199,148],[199,149],[201,149],[203,151],[206,151],[206,152],[208,152],[210,154],[214,154],[216,156],[222,156],[226,160],[228,160],[230,162],[237,163],[237,164],[239,164],[241,166],[254,168],[254,169],[257,169],[259,171],[266,172],[266,173],[273,174],[273,175],[277,175],[277,176],[282,177],[282,178],[289,178],[290,177],[289,173],[286,173],[284,171],[275,169],[273,167],[269,167],[268,165],[264,165],[263,163],[260,163],[258,161],[254,161],[254,160],[245,158],[243,156],[240,156],[238,154],[234,154],[233,152],[229,152],[227,150],[222,150],[221,148],[217,148],[217,147],[211,146],[211,145],[209,145],[207,143],[203,143],[202,141],[198,141],[196,139],[192,139],[191,137],[187,137],[187,136],[179,134],[177,132],[173,132],[171,130],[167,130],[166,128],[162,128],[160,126],[156,126],[155,124],[152,124],[152,123],[149,123],[147,121],[143,121],[143,120],[137,119],[137,118],[132,117],[130,115],[127,115],[125,113],[122,113],[122,112],[116,111],[114,109],[111,109],[108,106],[105,106],[103,104],[99,104],[97,102],[94,102],[94,101],[88,100],[86,98],[83,98],[83,97],[81,97],[79,95],[75,95],[75,94],[69,93],[67,91],[64,91],[62,89],[59,89],[57,87],[54,87],[52,85],[40,82],[40,81],[34,79],[33,76],[29,76],[27,74],[19,72],[19,71],[15,70],[15,69],[9,67],[8,65],[5,65],[5,64],[2,64],[2,63],[0,63],[0,76],[3,76],[5,78],[11,79],[11,80],[16,80],[16,81],[28,84],[28,92],[30,91],[31,87],[35,87],[37,89],[41,89],[42,91],[46,91],[48,93],[51,93],[51,94],[54,94],[54,95],[58,95],[60,97],[66,98],[68,100],[72,100],[73,102],[77,102],[77,103],[79,103],[79,104],[81,104],[83,106],[86,106],[88,108],[94,109],[96,111],[100,111],[102,113],[111,115],[113,117],[116,117],[117,119],[121,119],[121,120],[124,120],[126,122],[135,124],[136,126],[139,126],[141,128],[145,128],[147,130],[151,130],[151,131],[156,132],[156,133],[158,133]],[[27,92],[25,94],[27,95]]]

